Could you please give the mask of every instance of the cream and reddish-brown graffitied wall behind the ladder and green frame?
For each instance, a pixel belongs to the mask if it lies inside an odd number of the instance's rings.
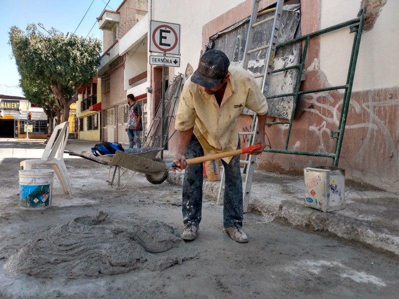
[[[275,0],[262,2],[268,6]],[[245,0],[205,22],[201,44],[247,17],[251,5],[252,0]],[[396,53],[399,1],[302,0],[301,32],[305,35],[353,19],[362,5],[369,5],[372,9],[368,16],[369,27],[361,41],[339,167],[345,168],[347,179],[399,192],[399,75]],[[353,34],[348,28],[312,38],[300,90],[345,84],[352,44]],[[192,64],[195,68],[196,63]],[[302,96],[297,104],[288,149],[334,152],[336,140],[330,138],[330,133],[337,129],[342,98],[341,91]],[[268,118],[268,121],[276,119]],[[238,128],[249,131],[251,123],[251,115],[242,115]],[[284,148],[287,125],[267,126],[265,131],[268,148]],[[246,137],[241,137],[241,141],[244,147]],[[331,165],[332,159],[264,152],[258,156],[256,163],[258,169],[303,174],[304,167]]]

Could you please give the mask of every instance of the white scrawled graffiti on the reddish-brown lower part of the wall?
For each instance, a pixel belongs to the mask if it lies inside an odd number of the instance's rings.
[[[356,152],[356,157],[353,159],[356,159],[358,162],[364,162],[365,158],[370,156],[370,150],[376,149],[375,144],[380,142],[379,140],[381,140],[384,142],[384,148],[389,151],[388,155],[390,155],[392,161],[392,163],[390,163],[390,166],[393,167],[392,170],[398,173],[399,144],[396,141],[395,136],[393,136],[394,134],[396,134],[396,130],[393,130],[392,127],[389,127],[389,123],[387,122],[387,120],[382,119],[380,114],[383,108],[398,107],[399,98],[373,102],[373,91],[367,92],[366,96],[368,97],[368,100],[363,103],[353,98],[351,99],[348,113],[348,121],[345,126],[346,133],[350,132],[350,130],[362,130],[363,138],[359,138],[359,140],[356,140],[356,143],[358,143],[358,149]],[[364,97],[362,98],[364,99]],[[336,130],[339,126],[343,100],[335,99],[332,96],[331,92],[326,91],[304,95],[301,98],[301,102],[302,107],[300,107],[299,109],[302,111],[302,114],[311,113],[314,114],[314,116],[316,116],[318,119],[318,123],[313,123],[308,126],[307,130],[310,135],[306,136],[306,140],[312,139],[316,141],[315,149],[317,152],[327,153],[329,152],[329,149],[334,149],[336,140],[330,138],[330,136],[331,131]],[[355,117],[354,114],[359,116],[359,118],[357,119],[366,119],[367,121],[359,122],[357,124],[351,124],[351,118]],[[313,119],[313,117],[309,117],[309,119]],[[278,119],[276,121],[278,121]],[[301,123],[294,123],[293,128],[298,125],[301,125]],[[391,124],[391,126],[395,127],[396,125]],[[289,128],[288,124],[273,125],[272,128],[277,128],[277,130],[279,131],[278,135],[281,137],[281,141],[285,142],[286,132]],[[242,128],[242,132],[250,131],[250,126]],[[267,132],[265,133],[265,135],[267,144],[266,148],[277,149],[276,146],[273,147],[272,142],[270,142],[267,136]],[[328,136],[329,140],[329,143],[327,144],[326,136]],[[242,142],[248,142],[249,137],[249,135],[240,136]],[[291,134],[290,144],[292,146],[289,150],[299,150],[301,146],[301,141],[303,142],[304,138],[305,137],[303,136],[297,137],[294,134]],[[344,143],[345,142],[351,141],[344,140]],[[382,147],[381,144],[379,144],[379,146]],[[351,157],[348,158],[352,159]]]

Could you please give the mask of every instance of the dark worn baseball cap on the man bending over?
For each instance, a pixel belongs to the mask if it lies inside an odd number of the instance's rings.
[[[191,81],[205,88],[213,88],[227,74],[229,65],[226,54],[219,50],[209,50],[201,56]]]

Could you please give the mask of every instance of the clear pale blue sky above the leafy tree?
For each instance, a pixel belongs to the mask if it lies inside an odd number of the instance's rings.
[[[18,87],[19,74],[8,44],[10,27],[17,26],[25,30],[28,24],[42,23],[46,29],[54,27],[64,34],[76,30],[75,34],[79,36],[103,41],[102,30],[98,29],[96,18],[105,7],[115,10],[121,2],[122,0],[0,0],[0,94],[24,96]]]

